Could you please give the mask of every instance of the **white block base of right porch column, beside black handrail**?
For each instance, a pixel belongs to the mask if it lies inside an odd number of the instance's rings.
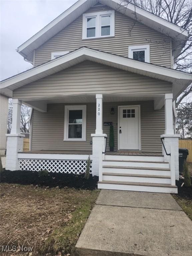
[[[167,153],[172,151],[174,152],[174,160],[175,160],[175,178],[176,180],[179,180],[179,134],[162,134],[161,138],[164,138],[163,143],[165,145],[165,148],[167,150]],[[163,148],[163,155],[164,155],[164,161],[170,163],[170,156],[167,156],[165,153],[165,150]]]

